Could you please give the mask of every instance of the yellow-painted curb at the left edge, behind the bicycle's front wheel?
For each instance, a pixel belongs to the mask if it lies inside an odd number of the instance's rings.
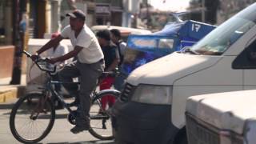
[[[25,94],[25,86],[0,86],[0,103],[19,98]]]

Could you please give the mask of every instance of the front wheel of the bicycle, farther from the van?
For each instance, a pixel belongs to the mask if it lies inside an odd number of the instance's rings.
[[[49,99],[42,102],[42,98],[45,98],[43,94],[27,94],[14,104],[10,113],[10,131],[19,142],[39,142],[54,126],[54,106]]]

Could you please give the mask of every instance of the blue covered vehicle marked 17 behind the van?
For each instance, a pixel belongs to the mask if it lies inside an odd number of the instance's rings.
[[[162,30],[153,34],[130,34],[122,73],[130,74],[138,66],[181,50],[184,46],[192,46],[215,27],[189,20],[168,23]]]

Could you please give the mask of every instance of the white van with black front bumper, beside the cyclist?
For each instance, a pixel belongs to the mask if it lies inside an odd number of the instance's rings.
[[[256,89],[255,22],[256,3],[190,49],[134,70],[114,105],[116,141],[186,143],[186,98]]]

